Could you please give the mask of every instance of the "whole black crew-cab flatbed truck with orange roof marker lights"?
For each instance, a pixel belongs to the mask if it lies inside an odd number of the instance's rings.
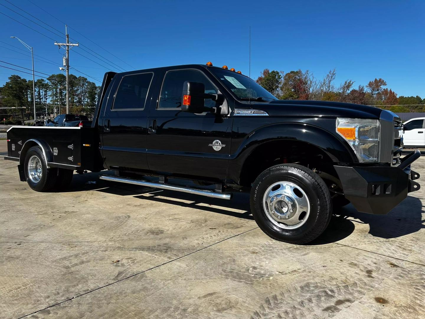
[[[220,199],[250,192],[259,227],[302,244],[349,202],[386,214],[419,189],[410,164],[420,153],[401,158],[400,129],[390,111],[278,100],[207,63],[108,72],[90,128],[12,127],[5,159],[36,191],[108,169],[101,179]]]

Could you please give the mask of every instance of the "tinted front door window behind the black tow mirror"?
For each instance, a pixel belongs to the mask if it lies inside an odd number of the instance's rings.
[[[183,84],[185,81],[201,82],[205,85],[205,93],[217,94],[217,89],[205,77],[201,71],[197,70],[177,70],[168,71],[165,74],[164,83],[159,96],[158,109],[178,109],[181,108],[181,97],[183,93]],[[205,99],[206,107],[214,107],[215,102],[211,99]]]

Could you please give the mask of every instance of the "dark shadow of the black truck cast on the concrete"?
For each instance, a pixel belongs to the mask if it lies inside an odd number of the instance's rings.
[[[74,174],[74,179],[68,191],[99,191],[254,220],[249,208],[249,194],[235,193],[231,200],[215,199],[176,191],[104,181],[98,178],[101,174],[105,174],[105,172],[84,175]],[[368,234],[385,239],[412,234],[425,228],[422,220],[422,213],[424,212],[424,206],[422,206],[420,199],[412,196],[408,196],[386,215],[359,213],[350,204],[335,210],[329,226],[323,234],[308,245],[323,245],[344,239],[354,232],[356,224],[368,224]]]

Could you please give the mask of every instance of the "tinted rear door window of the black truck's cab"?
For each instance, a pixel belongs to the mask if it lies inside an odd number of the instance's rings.
[[[144,109],[153,73],[125,75],[113,101],[113,110]]]

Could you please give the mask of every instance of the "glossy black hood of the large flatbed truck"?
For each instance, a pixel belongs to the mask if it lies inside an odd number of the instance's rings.
[[[309,100],[273,100],[268,103],[254,103],[249,106],[266,111],[271,116],[281,115],[286,117],[329,116],[379,119],[383,111],[380,108],[361,104]]]

